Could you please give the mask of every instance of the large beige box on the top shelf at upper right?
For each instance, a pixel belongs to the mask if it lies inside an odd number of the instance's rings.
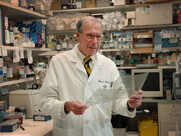
[[[136,25],[172,24],[172,3],[136,8]]]

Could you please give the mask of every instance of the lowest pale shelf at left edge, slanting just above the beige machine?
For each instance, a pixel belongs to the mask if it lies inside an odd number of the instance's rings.
[[[18,83],[29,82],[29,81],[33,81],[33,77],[3,82],[3,83],[0,83],[0,87],[12,85],[12,84],[18,84]]]

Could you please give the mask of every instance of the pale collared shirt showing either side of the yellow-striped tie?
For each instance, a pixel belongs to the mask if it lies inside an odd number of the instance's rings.
[[[78,46],[77,46],[77,55],[78,55],[78,58],[80,59],[80,61],[82,62],[82,64],[84,65],[84,58],[85,58],[85,56],[84,56],[84,54],[82,54],[80,52]],[[95,64],[96,57],[95,57],[95,55],[93,55],[93,56],[90,56],[90,58],[92,59],[92,61],[89,63],[89,66],[90,66],[90,68],[92,70],[93,67],[94,67],[94,64]]]

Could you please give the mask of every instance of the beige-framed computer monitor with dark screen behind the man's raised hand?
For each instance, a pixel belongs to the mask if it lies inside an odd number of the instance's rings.
[[[136,75],[148,73],[142,88],[136,88]],[[132,76],[132,92],[143,90],[143,97],[163,97],[163,74],[162,69],[134,69]]]

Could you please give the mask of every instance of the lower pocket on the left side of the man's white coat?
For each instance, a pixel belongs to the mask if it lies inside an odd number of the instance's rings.
[[[65,119],[58,118],[56,120],[56,126],[59,128],[63,128],[63,129],[73,129],[74,128],[74,124],[70,118],[65,118]]]

